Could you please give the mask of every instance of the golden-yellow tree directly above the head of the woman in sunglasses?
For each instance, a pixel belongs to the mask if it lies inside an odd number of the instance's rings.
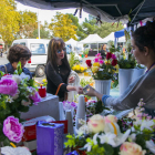
[[[71,38],[76,40],[75,34],[78,27],[72,24],[72,20],[69,19],[69,14],[56,12],[54,19],[51,19],[49,29],[52,31],[53,37],[62,38],[63,41],[68,41]]]

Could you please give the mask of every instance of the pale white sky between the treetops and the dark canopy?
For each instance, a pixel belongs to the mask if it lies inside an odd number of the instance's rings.
[[[44,24],[44,21],[48,21],[48,23],[50,23],[51,19],[56,14],[56,11],[62,12],[62,13],[72,13],[72,14],[74,14],[74,11],[75,11],[75,9],[63,9],[63,10],[54,10],[54,11],[41,10],[41,9],[23,6],[20,2],[17,2],[17,10],[18,11],[30,10],[32,12],[37,12],[37,14],[39,13],[39,21],[41,21],[42,24]],[[76,17],[79,18],[79,12],[76,13]],[[82,23],[85,18],[89,19],[89,13],[83,11],[82,18],[79,18],[79,22]]]

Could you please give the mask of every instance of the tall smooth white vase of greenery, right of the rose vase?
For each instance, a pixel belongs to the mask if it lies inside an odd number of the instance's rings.
[[[118,69],[118,87],[122,95],[133,80],[134,69]]]

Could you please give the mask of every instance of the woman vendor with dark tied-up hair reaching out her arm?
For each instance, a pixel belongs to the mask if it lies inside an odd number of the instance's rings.
[[[104,105],[123,111],[137,106],[141,99],[145,104],[145,112],[155,115],[155,21],[136,29],[132,34],[132,53],[137,63],[144,64],[147,71],[133,82],[117,99],[101,94],[89,86],[86,95],[96,96]]]

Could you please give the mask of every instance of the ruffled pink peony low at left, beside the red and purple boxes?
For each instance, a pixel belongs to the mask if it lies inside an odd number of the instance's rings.
[[[23,126],[14,116],[8,116],[3,122],[3,134],[12,142],[19,143],[23,135]]]

